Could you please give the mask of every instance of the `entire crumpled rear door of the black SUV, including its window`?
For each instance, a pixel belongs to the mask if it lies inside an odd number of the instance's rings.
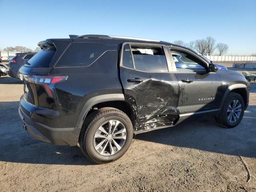
[[[172,126],[178,118],[179,85],[169,65],[165,46],[123,44],[120,78],[125,100],[136,114],[136,131]]]

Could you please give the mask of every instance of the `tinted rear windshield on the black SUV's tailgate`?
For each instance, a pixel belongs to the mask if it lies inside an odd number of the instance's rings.
[[[37,54],[35,54],[30,60],[28,60],[25,66],[49,67],[55,52],[56,52],[56,48],[54,46],[43,48]]]

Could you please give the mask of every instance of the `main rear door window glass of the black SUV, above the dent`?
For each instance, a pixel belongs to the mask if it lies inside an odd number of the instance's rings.
[[[166,57],[161,46],[131,45],[136,70],[168,72]]]

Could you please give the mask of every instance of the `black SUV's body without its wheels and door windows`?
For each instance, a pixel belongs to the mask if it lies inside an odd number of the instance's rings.
[[[130,67],[123,60],[125,45],[128,53],[138,54],[130,56]],[[232,90],[245,94],[248,105],[249,85],[238,72],[208,72],[204,57],[168,42],[87,35],[38,46],[42,50],[19,70],[24,82],[19,114],[28,132],[52,144],[76,145],[86,116],[104,106],[126,112],[137,134],[174,126],[192,114],[216,114]],[[141,50],[150,47],[161,53],[145,56]],[[177,70],[172,48],[194,55],[205,71]],[[134,60],[144,65],[144,56],[157,58],[163,70],[134,67]]]

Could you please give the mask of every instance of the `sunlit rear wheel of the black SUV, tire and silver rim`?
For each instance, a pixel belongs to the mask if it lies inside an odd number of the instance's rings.
[[[132,137],[132,122],[124,112],[116,108],[100,108],[86,117],[79,145],[89,160],[104,164],[123,156]]]

